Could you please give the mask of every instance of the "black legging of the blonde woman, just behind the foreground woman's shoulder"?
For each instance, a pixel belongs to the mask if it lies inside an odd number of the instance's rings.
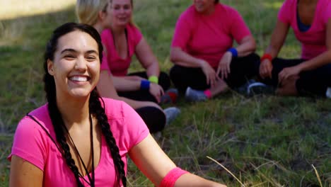
[[[165,115],[163,111],[153,106],[137,108],[136,112],[144,120],[149,132],[158,132],[163,130],[165,125]]]

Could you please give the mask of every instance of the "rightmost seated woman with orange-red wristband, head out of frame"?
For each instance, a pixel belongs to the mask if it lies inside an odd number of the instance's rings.
[[[301,42],[301,58],[277,58],[289,28]],[[331,1],[286,0],[261,58],[263,82],[283,96],[325,96],[331,86]]]

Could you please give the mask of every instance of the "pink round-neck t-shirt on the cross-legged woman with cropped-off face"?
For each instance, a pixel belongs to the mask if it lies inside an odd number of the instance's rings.
[[[251,35],[250,30],[234,8],[216,4],[214,13],[206,16],[192,5],[178,18],[171,46],[180,47],[216,68],[232,47],[233,39],[240,42],[247,35]]]

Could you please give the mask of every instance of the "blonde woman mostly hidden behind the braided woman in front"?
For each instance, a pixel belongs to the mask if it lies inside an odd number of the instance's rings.
[[[110,28],[110,10],[110,0],[79,0],[76,4],[76,15],[79,21],[93,26],[98,30],[99,34],[101,34],[105,28]],[[103,58],[102,64],[107,65],[106,56],[108,56],[108,53],[104,52],[103,54],[105,57]],[[113,78],[112,74],[107,70],[100,72],[100,81],[97,86],[100,96],[115,98],[128,103],[139,113],[140,117],[143,118],[150,132],[163,130],[165,125],[170,123],[179,114],[180,110],[178,108],[170,107],[163,111],[160,106],[151,101],[136,101],[118,96],[112,81]],[[124,82],[123,84],[127,83]]]

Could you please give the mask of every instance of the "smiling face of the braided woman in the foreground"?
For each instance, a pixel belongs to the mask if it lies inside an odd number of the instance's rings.
[[[54,60],[47,60],[47,69],[54,77],[59,98],[71,99],[90,94],[99,80],[97,49],[97,42],[79,30],[59,38]]]

